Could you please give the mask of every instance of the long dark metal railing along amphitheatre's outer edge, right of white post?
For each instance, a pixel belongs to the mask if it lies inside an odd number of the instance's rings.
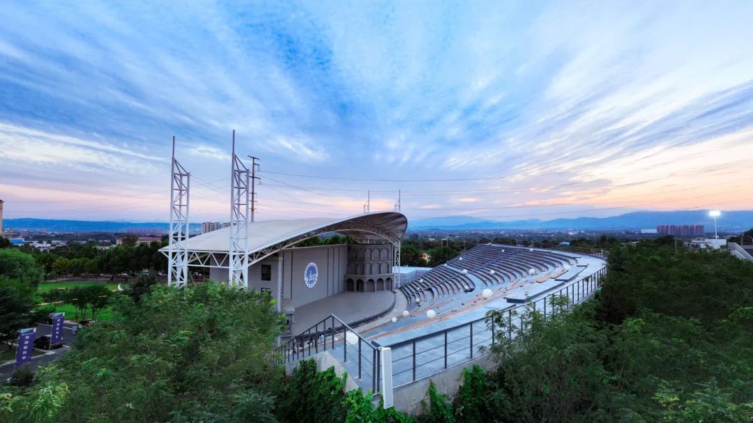
[[[596,273],[563,286],[559,291],[544,294],[544,297],[538,300],[499,310],[507,314],[508,324],[505,324],[505,327],[495,327],[494,321],[484,316],[468,323],[385,345],[392,348],[393,384],[397,388],[471,361],[479,355],[480,348],[494,345],[495,341],[500,339],[499,336],[513,339],[514,323],[520,321],[519,311],[532,309],[547,318],[547,314],[551,315],[556,307],[562,306],[561,301],[555,300],[557,297],[566,297],[566,306],[572,308],[587,300],[601,287],[605,273],[606,268],[602,267]],[[517,332],[520,330],[524,330],[524,325],[520,325]]]

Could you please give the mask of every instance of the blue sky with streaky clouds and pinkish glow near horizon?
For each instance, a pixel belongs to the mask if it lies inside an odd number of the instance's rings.
[[[118,4],[123,3],[123,4]],[[753,2],[0,2],[5,218],[753,205]]]

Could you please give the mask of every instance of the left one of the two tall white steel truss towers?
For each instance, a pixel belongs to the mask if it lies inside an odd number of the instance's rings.
[[[167,253],[167,285],[183,288],[188,283],[188,203],[191,174],[175,160],[172,137],[170,172],[170,228]]]

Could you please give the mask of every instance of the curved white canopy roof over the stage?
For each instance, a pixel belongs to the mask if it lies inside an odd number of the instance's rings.
[[[279,251],[303,239],[337,232],[355,242],[400,241],[408,220],[399,212],[377,212],[351,218],[308,218],[289,221],[261,221],[249,223],[248,253]],[[168,247],[163,247],[166,251]],[[227,253],[230,251],[230,227],[194,236],[188,240],[188,251]]]

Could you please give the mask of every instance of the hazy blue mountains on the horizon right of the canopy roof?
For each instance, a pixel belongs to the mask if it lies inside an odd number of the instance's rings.
[[[560,218],[551,221],[527,219],[523,221],[490,221],[468,216],[416,219],[410,230],[639,230],[656,229],[657,225],[702,224],[714,230],[714,220],[708,211],[633,212],[608,218]],[[753,211],[722,212],[719,230],[748,230],[753,227]]]

